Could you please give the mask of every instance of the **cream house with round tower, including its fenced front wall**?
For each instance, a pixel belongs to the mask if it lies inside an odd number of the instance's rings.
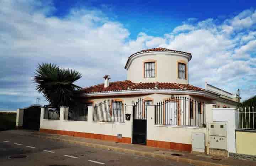
[[[125,65],[127,80],[111,82],[111,77],[105,75],[102,84],[84,88],[79,100],[85,108],[77,115],[67,108],[61,109],[60,122],[49,120],[48,110],[43,108],[40,130],[209,152],[208,127],[213,122],[212,109],[236,108],[240,99],[239,95],[208,83],[204,89],[190,85],[191,58],[191,53],[166,48],[134,53]],[[81,122],[85,122],[84,126]],[[204,135],[202,147],[192,148],[193,133]]]

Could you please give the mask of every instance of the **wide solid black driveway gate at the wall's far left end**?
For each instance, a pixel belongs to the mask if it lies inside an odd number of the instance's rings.
[[[24,109],[23,112],[23,129],[39,130],[40,128],[41,108],[32,106]]]

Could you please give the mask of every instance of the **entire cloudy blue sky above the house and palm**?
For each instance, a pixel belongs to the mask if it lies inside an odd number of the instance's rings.
[[[166,47],[192,53],[190,84],[256,95],[255,1],[0,1],[0,110],[41,97],[31,76],[52,62],[82,73],[78,85],[126,80],[130,54]],[[202,60],[203,59],[203,60]]]

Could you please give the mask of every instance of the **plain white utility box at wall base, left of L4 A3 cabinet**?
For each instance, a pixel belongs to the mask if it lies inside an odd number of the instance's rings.
[[[192,151],[205,151],[204,133],[192,133]]]

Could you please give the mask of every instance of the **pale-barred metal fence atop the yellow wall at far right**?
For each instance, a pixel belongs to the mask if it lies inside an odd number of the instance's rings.
[[[237,127],[240,129],[256,130],[256,107],[239,107],[236,112],[238,117]]]

